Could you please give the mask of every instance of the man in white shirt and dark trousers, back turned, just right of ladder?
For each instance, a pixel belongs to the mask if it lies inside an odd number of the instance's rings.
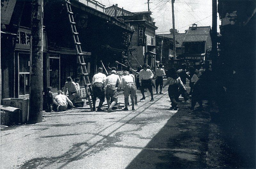
[[[101,109],[101,106],[103,102],[105,101],[105,93],[104,93],[104,87],[106,85],[106,79],[107,76],[103,74],[103,69],[101,67],[98,68],[97,74],[95,74],[92,77],[92,105],[93,105],[93,111],[95,111],[95,104],[97,97],[100,99],[99,106],[97,111],[103,111]]]

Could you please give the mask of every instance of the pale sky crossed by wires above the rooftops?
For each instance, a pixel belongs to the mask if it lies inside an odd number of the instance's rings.
[[[148,0],[97,0],[106,5],[105,8],[118,4],[119,8],[131,12],[148,11]],[[149,8],[151,17],[155,18],[158,29],[156,33],[169,33],[172,28],[172,3],[171,0],[150,0]],[[179,33],[196,23],[197,26],[212,27],[212,0],[175,0],[174,3],[175,29]],[[217,18],[217,25],[220,19]],[[219,26],[217,26],[219,32]]]

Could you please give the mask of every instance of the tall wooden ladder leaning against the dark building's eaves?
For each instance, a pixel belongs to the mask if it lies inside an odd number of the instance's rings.
[[[69,19],[71,30],[72,30],[72,36],[73,36],[73,40],[74,40],[75,48],[76,48],[78,69],[80,69],[80,73],[81,73],[80,76],[83,77],[86,97],[88,99],[90,109],[91,109],[91,111],[93,111],[92,99],[91,99],[92,84],[90,83],[88,72],[86,69],[86,63],[84,62],[84,53],[82,52],[81,43],[79,42],[78,32],[76,31],[76,22],[74,21],[74,17],[73,17],[74,13],[71,10],[71,3],[69,0],[66,0],[66,7],[67,7],[67,12],[68,12],[68,19]]]

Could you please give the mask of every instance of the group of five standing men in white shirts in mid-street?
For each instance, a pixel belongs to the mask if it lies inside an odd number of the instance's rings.
[[[162,93],[163,89],[163,76],[165,76],[164,69],[162,68],[163,65],[160,63],[159,68],[156,70],[156,93],[158,94],[158,86],[160,85],[160,93]],[[148,91],[151,95],[150,102],[154,101],[153,96],[153,77],[154,74],[150,70],[150,67],[147,63],[142,65],[142,70],[138,73],[139,75],[139,83],[140,83],[140,91],[142,94],[142,98],[140,100],[145,100],[144,91],[148,88]],[[132,102],[132,110],[135,110],[134,106],[137,104],[137,88],[136,88],[136,81],[135,77],[130,72],[130,68],[124,71],[123,76],[119,77],[117,75],[116,70],[112,69],[111,74],[106,76],[103,74],[103,69],[100,67],[98,68],[98,73],[95,74],[92,78],[92,103],[93,103],[93,111],[96,110],[96,99],[97,97],[100,99],[97,111],[103,111],[101,109],[103,102],[105,101],[105,94],[108,103],[108,112],[113,112],[113,107],[118,103],[118,93],[117,88],[118,86],[123,88],[124,90],[124,104],[125,108],[123,110],[128,110],[129,105],[129,96],[131,97]]]

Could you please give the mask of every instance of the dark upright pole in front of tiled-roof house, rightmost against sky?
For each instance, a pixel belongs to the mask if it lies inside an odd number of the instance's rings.
[[[212,0],[212,59],[217,61],[217,56],[217,0]]]

